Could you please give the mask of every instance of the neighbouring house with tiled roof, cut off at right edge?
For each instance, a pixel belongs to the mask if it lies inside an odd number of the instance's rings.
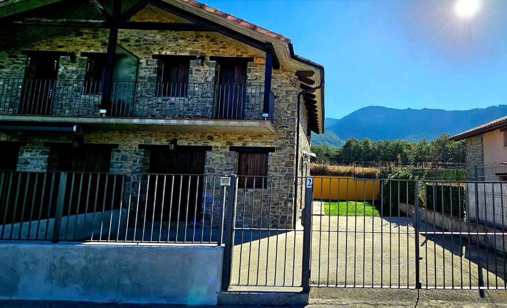
[[[507,226],[507,117],[449,138],[465,140],[467,215],[493,226]]]

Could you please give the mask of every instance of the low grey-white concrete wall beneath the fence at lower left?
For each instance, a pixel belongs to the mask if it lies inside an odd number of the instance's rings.
[[[0,242],[0,299],[216,304],[223,247]]]

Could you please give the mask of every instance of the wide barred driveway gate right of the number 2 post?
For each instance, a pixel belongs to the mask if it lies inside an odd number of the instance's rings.
[[[507,289],[507,182],[315,180],[311,286]]]

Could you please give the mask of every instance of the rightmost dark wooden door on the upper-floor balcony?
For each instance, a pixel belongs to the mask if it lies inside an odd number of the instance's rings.
[[[216,91],[216,119],[239,120],[243,117],[246,99],[246,63],[219,63],[219,83]]]

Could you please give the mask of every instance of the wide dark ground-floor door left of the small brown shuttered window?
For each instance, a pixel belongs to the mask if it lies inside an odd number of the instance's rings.
[[[203,150],[150,149],[147,220],[199,221],[205,158]]]

